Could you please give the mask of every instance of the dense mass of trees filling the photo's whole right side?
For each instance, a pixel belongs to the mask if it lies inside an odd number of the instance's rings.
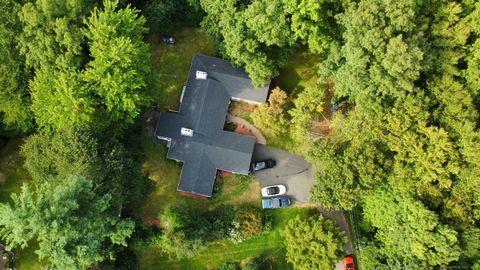
[[[343,40],[319,72],[354,106],[313,144],[312,197],[328,208],[365,201],[366,268],[451,265],[463,260],[457,239],[478,226],[476,8],[364,0],[338,17]]]

